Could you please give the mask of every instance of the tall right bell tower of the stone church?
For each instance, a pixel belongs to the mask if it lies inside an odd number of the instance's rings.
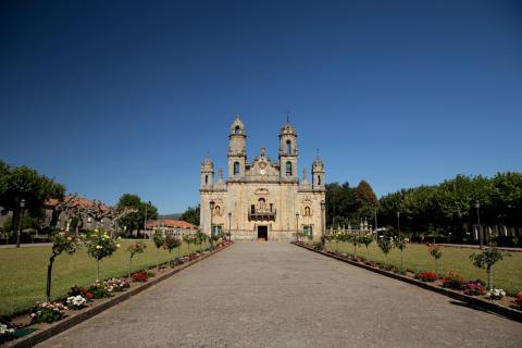
[[[282,179],[297,181],[297,132],[288,120],[286,120],[286,123],[279,128],[279,164]]]

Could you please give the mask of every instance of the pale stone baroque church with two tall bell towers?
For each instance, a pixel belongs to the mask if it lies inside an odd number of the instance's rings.
[[[319,239],[325,226],[324,164],[312,163],[311,183],[306,169],[298,176],[296,128],[287,121],[279,128],[278,161],[264,147],[247,159],[247,133],[236,115],[228,135],[226,179],[207,157],[201,165],[200,229],[210,235],[231,234],[232,239],[294,239],[296,232]]]

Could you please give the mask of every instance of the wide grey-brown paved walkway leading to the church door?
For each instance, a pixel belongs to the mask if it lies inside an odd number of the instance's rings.
[[[38,347],[522,347],[522,323],[291,245],[238,243]]]

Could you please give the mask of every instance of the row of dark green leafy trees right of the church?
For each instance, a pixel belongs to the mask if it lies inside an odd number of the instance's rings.
[[[326,185],[327,227],[348,223],[357,227],[361,219],[375,227],[377,217],[378,227],[400,229],[414,238],[445,236],[463,241],[478,216],[482,225],[522,227],[522,173],[457,175],[438,185],[402,188],[378,200],[364,181],[357,187]]]

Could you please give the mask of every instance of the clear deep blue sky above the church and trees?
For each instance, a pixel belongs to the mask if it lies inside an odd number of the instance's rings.
[[[521,1],[2,1],[0,159],[162,213],[297,127],[327,182],[381,196],[522,171]]]

